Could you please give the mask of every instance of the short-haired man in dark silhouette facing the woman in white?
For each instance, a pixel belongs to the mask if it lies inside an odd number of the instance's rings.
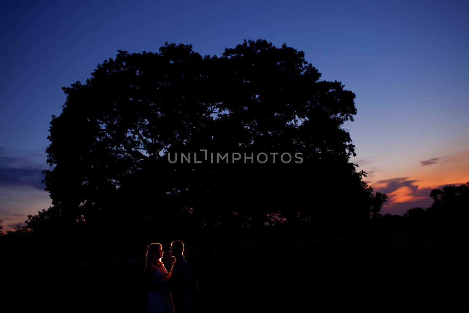
[[[180,240],[171,243],[169,253],[176,260],[169,272],[171,280],[171,294],[173,295],[173,305],[175,313],[190,313],[190,305],[192,304],[192,274],[182,255],[184,252],[184,244]]]

